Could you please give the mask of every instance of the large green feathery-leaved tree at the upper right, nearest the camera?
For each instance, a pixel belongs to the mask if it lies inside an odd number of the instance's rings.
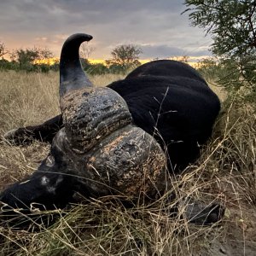
[[[242,85],[256,90],[255,0],[186,0],[185,4],[191,25],[212,35],[212,53],[223,69],[230,70],[220,83],[231,90]]]

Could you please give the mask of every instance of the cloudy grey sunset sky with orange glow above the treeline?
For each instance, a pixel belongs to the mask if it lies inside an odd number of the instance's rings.
[[[210,37],[189,26],[183,0],[0,0],[0,41],[8,49],[47,47],[60,55],[75,32],[94,37],[90,58],[108,59],[118,44],[137,44],[142,59],[210,55]]]

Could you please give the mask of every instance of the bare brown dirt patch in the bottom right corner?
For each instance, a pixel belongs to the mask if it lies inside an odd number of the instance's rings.
[[[230,184],[230,181],[229,181]],[[213,228],[195,247],[196,256],[255,256],[256,207],[225,184],[226,212],[221,226]],[[237,188],[239,189],[239,188]],[[238,192],[238,191],[236,191]]]

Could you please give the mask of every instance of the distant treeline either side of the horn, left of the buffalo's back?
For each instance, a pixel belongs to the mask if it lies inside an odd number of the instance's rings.
[[[88,61],[92,49],[81,47],[80,56],[84,70],[92,75],[105,73],[126,73],[135,67],[141,65],[139,55],[142,49],[135,44],[122,44],[115,47],[112,52],[112,58],[103,63],[91,63]],[[9,55],[9,60],[4,56]],[[5,44],[0,42],[0,69],[15,70],[26,72],[48,73],[50,70],[58,71],[60,63],[55,60],[53,53],[49,49],[34,47],[32,49],[15,49],[9,51]],[[53,61],[55,60],[55,61]]]

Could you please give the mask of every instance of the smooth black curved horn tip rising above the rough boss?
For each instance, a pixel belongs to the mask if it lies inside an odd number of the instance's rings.
[[[90,80],[84,73],[79,58],[79,47],[84,41],[90,41],[92,36],[73,34],[62,46],[60,60],[60,97],[72,90],[92,87]]]

